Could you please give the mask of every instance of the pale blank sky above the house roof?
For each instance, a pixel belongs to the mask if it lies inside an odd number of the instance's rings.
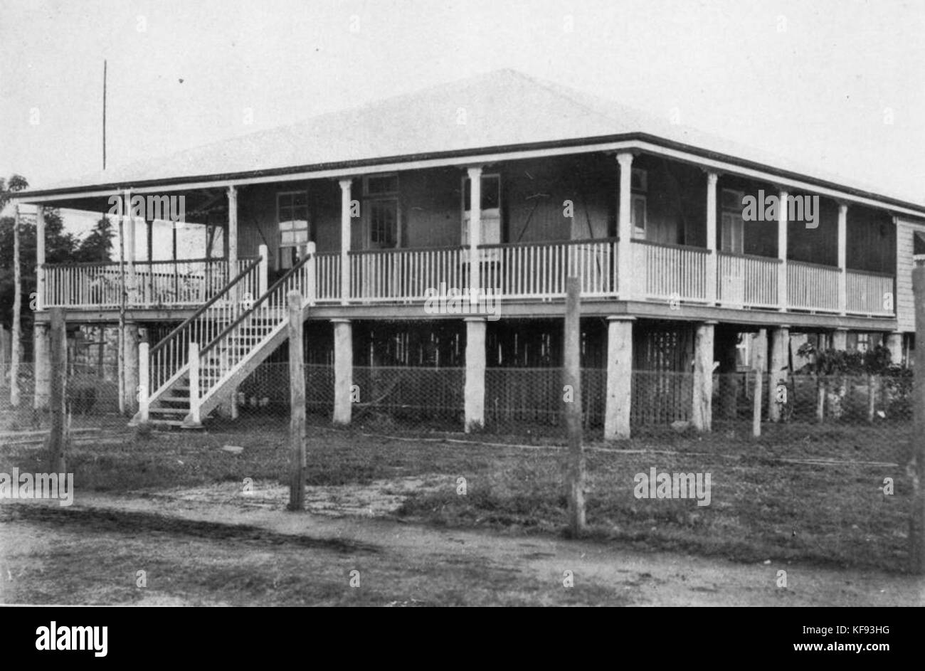
[[[0,175],[41,188],[514,68],[925,204],[925,2],[0,0]],[[783,166],[786,168],[786,166]]]

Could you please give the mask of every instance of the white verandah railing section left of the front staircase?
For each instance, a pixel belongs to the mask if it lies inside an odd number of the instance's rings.
[[[46,264],[43,306],[115,309],[123,276],[129,308],[200,305],[252,261],[241,258],[237,268],[229,268],[224,258],[136,261],[121,264],[121,270],[118,262]]]

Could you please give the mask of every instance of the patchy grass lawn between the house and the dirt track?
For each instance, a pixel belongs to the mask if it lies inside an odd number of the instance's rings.
[[[156,491],[244,478],[285,481],[284,419],[263,426],[241,422],[221,432],[146,437],[124,429],[124,424],[121,429],[111,426],[101,444],[85,442],[70,451],[68,470],[74,473],[78,496],[81,490]],[[439,477],[449,484],[411,494],[398,516],[449,528],[562,533],[564,448],[502,444],[523,440],[518,436],[406,432],[399,440],[376,435],[375,429],[310,428],[307,483]],[[904,570],[911,490],[905,466],[908,425],[899,429],[793,424],[766,428],[759,441],[751,439],[748,430],[744,424],[720,424],[706,438],[665,432],[626,441],[617,449],[590,445],[590,536],[635,549],[670,549],[742,562],[799,560]],[[113,440],[118,437],[123,440]],[[243,452],[223,451],[228,444],[240,445]],[[42,472],[43,448],[4,447],[0,472],[8,473],[13,466]],[[710,504],[635,498],[635,474],[648,474],[652,467],[670,473],[709,473]],[[458,478],[465,478],[464,495],[457,493]],[[894,479],[894,495],[882,492],[883,478]]]

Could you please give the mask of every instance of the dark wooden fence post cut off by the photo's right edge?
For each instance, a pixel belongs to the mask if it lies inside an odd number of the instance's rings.
[[[912,511],[909,516],[909,569],[925,574],[925,267],[912,270],[916,304],[916,366],[913,368],[915,430],[909,466],[912,473]]]

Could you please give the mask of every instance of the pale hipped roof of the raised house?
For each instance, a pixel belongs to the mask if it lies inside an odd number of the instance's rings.
[[[176,182],[641,133],[866,193],[869,185],[511,69],[110,168],[32,193]],[[28,195],[28,193],[24,194]]]

